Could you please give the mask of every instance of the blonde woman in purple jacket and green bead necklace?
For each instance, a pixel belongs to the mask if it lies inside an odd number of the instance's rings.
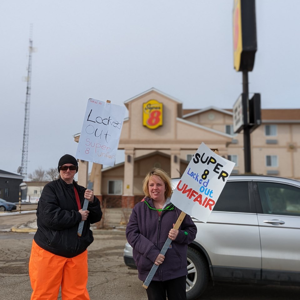
[[[170,177],[154,168],[143,180],[143,201],[137,203],[126,227],[128,243],[138,267],[138,278],[146,280],[153,263],[158,265],[147,288],[149,300],[186,299],[187,245],[197,233],[190,216],[183,219],[179,230],[173,229],[181,210],[171,203]],[[172,240],[165,256],[161,249],[167,238]]]

